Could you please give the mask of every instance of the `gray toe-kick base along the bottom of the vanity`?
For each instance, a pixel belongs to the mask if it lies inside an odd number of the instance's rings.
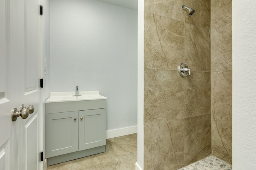
[[[105,145],[96,147],[96,148],[86,149],[86,150],[77,151],[77,152],[71,152],[68,154],[62,154],[59,156],[54,156],[54,157],[48,158],[47,165],[50,166],[50,165],[58,164],[61,162],[66,162],[69,160],[83,158],[86,156],[90,156],[90,155],[98,154],[98,153],[102,153],[102,152],[105,152]]]

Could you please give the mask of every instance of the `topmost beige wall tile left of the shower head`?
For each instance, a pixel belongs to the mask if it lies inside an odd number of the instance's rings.
[[[144,10],[152,14],[184,21],[185,12],[182,10],[184,2],[185,0],[145,0]]]

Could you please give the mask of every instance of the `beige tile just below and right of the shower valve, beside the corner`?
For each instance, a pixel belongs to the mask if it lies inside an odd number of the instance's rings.
[[[211,113],[210,72],[191,71],[185,78],[185,117]]]

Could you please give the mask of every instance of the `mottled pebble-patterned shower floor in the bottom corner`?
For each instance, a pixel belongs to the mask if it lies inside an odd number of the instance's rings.
[[[208,156],[178,170],[232,170],[232,165],[214,156]]]

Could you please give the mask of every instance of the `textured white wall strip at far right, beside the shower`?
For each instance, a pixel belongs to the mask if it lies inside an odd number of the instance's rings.
[[[255,0],[232,0],[233,169],[256,169]]]

